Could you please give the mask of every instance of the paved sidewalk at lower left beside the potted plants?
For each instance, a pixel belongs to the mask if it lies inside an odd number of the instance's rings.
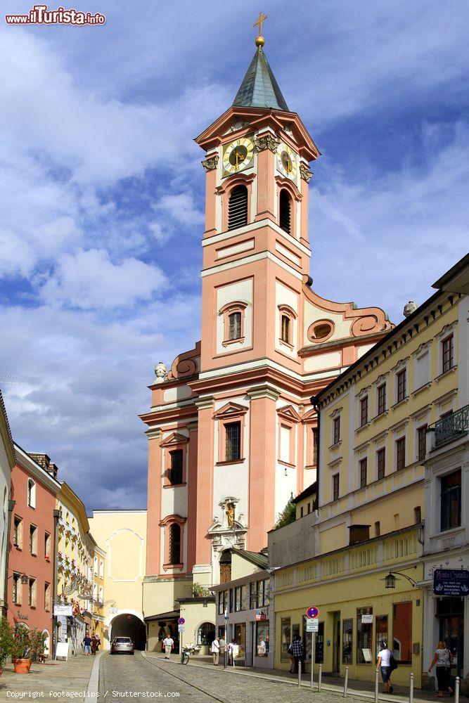
[[[0,701],[31,699],[33,693],[39,700],[52,700],[53,692],[59,691],[77,692],[80,695],[73,699],[83,700],[95,661],[96,657],[79,654],[68,662],[33,662],[28,674],[15,673],[13,664],[7,662],[0,676]]]

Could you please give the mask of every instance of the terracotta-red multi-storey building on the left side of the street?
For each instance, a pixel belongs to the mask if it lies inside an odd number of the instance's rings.
[[[11,513],[8,556],[8,620],[38,628],[51,645],[54,593],[54,516],[60,483],[56,467],[45,454],[28,454],[15,444],[11,472]]]

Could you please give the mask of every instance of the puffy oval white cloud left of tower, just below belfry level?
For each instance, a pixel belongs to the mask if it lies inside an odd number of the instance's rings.
[[[147,300],[163,285],[167,278],[157,266],[138,259],[113,264],[108,252],[79,250],[60,257],[56,271],[41,287],[41,297],[53,304],[110,309]]]

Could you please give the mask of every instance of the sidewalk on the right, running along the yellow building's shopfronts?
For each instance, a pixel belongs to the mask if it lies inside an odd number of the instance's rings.
[[[148,659],[164,659],[165,655],[160,652],[142,652],[143,656]],[[171,662],[174,665],[179,665],[179,655],[172,655]],[[191,661],[188,666],[197,666],[201,669],[214,669],[211,657],[191,657]],[[278,669],[259,669],[256,666],[228,666],[226,669],[223,665],[217,666],[217,671],[224,671],[227,675],[232,676],[255,676],[256,678],[264,678],[268,681],[278,681],[278,683],[287,683],[290,685],[297,685],[298,676],[297,674],[289,674],[286,671],[280,671]],[[310,674],[302,675],[302,686],[309,688]],[[314,673],[314,690],[318,687],[318,675]],[[323,676],[321,690],[336,692],[342,696],[344,691],[344,680],[343,678],[333,678],[332,676]],[[375,697],[375,687],[374,683],[368,683],[368,681],[356,681],[349,679],[348,681],[348,696],[351,698],[359,697],[363,700],[374,700]],[[380,701],[389,701],[390,696],[383,694],[383,684],[380,678]],[[391,699],[399,703],[409,703],[409,688],[406,686],[394,686],[394,692],[392,693]],[[423,691],[420,689],[415,689],[413,692],[414,701],[432,701],[435,699],[434,691]],[[461,700],[468,700],[464,696],[461,696]]]

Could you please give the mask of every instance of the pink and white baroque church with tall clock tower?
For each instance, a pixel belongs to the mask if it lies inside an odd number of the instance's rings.
[[[229,580],[226,550],[266,547],[290,497],[316,479],[311,395],[393,326],[377,307],[311,288],[309,167],[320,153],[256,44],[233,105],[195,140],[206,179],[200,342],[169,372],[158,364],[141,415],[149,650],[167,631],[177,639],[181,614],[184,641],[202,643],[215,622],[207,588]]]

